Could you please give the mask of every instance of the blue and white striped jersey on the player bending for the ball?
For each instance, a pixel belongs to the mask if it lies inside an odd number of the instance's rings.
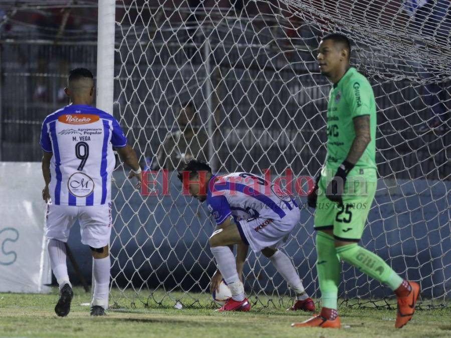
[[[212,176],[206,202],[216,224],[230,216],[237,221],[252,218],[280,220],[289,210],[298,208],[280,186],[244,172]]]

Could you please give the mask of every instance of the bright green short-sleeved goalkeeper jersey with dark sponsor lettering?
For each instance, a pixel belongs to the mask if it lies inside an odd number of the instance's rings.
[[[368,80],[351,67],[329,93],[326,169],[334,172],[346,159],[355,138],[353,118],[370,116],[371,141],[355,169],[376,169],[376,102]]]

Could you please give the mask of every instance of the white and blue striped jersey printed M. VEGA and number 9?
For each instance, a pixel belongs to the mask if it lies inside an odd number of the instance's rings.
[[[117,120],[87,105],[70,105],[46,117],[41,148],[53,153],[49,192],[53,204],[102,205],[111,199],[113,147],[127,139]]]

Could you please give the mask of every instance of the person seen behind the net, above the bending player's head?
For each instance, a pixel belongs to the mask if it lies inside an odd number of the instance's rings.
[[[181,105],[177,117],[180,130],[170,132],[160,146],[153,170],[178,170],[189,160],[207,161],[208,136],[199,128],[198,114],[192,101]]]

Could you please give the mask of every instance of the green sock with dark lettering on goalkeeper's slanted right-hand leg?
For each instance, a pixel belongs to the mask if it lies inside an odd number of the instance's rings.
[[[387,284],[392,290],[401,285],[403,279],[382,258],[358,246],[357,243],[340,246],[336,251],[345,262],[357,267],[371,278]]]

